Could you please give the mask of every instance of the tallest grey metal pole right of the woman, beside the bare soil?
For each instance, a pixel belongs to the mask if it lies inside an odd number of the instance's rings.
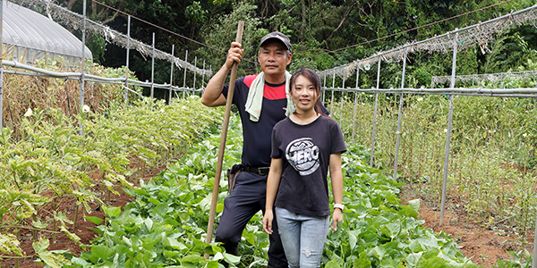
[[[451,68],[451,85],[455,88],[455,71],[456,71],[456,50],[458,43],[458,34],[455,36],[455,45],[453,47],[453,66]],[[444,223],[444,210],[446,208],[446,188],[447,188],[447,166],[449,164],[449,142],[451,140],[451,123],[453,121],[453,95],[449,96],[449,113],[447,114],[447,138],[446,138],[446,155],[444,156],[444,177],[442,180],[442,201],[440,205],[440,221]]]

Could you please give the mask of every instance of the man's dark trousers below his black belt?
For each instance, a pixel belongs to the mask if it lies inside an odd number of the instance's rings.
[[[241,172],[235,178],[234,189],[224,201],[224,211],[215,230],[215,241],[222,242],[226,252],[237,255],[246,224],[260,210],[265,213],[267,175]],[[286,253],[277,232],[276,218],[273,233],[268,236],[268,266],[287,267]]]

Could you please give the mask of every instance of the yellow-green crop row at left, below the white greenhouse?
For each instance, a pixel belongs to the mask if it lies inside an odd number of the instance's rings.
[[[3,259],[40,258],[51,267],[68,260],[49,252],[50,234],[64,234],[80,243],[76,218],[91,213],[90,205],[105,205],[117,187],[132,188],[148,167],[169,163],[203,131],[221,121],[217,110],[199,113],[200,101],[188,99],[164,105],[138,103],[128,109],[111,104],[103,113],[88,111],[76,118],[60,110],[30,111],[20,135],[4,129],[0,135],[0,255]],[[75,220],[56,210],[64,198],[75,198]],[[35,254],[21,249],[21,230],[32,230]]]

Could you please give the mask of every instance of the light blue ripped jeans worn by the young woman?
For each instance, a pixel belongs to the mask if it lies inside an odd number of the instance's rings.
[[[275,214],[289,268],[320,267],[330,217],[295,214],[281,207]]]

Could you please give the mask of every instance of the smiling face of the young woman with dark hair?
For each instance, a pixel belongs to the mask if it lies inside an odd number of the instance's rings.
[[[292,97],[294,105],[296,106],[296,112],[304,113],[310,112],[314,109],[315,103],[317,103],[317,90],[311,80],[308,80],[303,75],[299,75],[294,80]]]

